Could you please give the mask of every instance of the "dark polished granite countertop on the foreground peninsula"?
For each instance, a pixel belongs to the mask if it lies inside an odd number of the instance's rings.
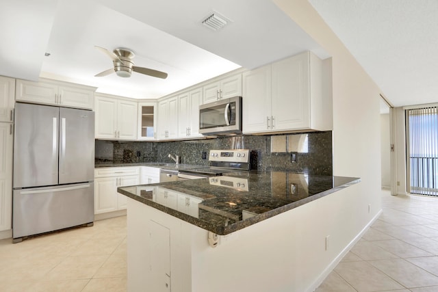
[[[360,178],[344,176],[252,170],[196,180],[118,187],[118,192],[217,235],[227,235],[360,181]],[[163,200],[165,193],[172,193],[173,198],[188,196],[194,198],[195,203],[187,210],[187,206],[177,204],[181,200]]]

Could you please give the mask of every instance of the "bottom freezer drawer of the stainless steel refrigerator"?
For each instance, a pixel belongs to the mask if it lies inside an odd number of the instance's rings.
[[[12,212],[14,239],[94,221],[94,185],[15,189]]]

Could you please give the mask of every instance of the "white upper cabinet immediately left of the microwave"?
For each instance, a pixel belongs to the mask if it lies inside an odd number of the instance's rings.
[[[178,137],[202,137],[199,134],[199,105],[203,102],[203,88],[179,94],[178,102]]]

